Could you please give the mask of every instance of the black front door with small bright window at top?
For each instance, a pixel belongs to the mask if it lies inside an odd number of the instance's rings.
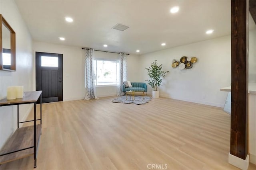
[[[63,101],[62,54],[36,52],[36,90],[42,103]]]

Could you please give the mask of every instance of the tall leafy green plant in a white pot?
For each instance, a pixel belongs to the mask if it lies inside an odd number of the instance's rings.
[[[162,70],[162,64],[156,62],[156,60],[151,64],[150,67],[146,68],[148,70],[148,76],[150,80],[146,80],[148,84],[154,89],[152,91],[152,98],[159,98],[158,87],[162,83],[162,77],[165,77],[169,71]]]

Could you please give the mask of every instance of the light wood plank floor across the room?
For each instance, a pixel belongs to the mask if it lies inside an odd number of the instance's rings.
[[[168,98],[139,106],[113,98],[43,104],[36,170],[145,170],[148,164],[238,170],[228,164],[230,115],[221,108]],[[0,169],[33,166],[30,156]]]

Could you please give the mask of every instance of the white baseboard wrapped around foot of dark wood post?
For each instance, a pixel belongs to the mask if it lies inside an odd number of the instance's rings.
[[[246,156],[246,159],[241,159],[237,156],[234,156],[232,154],[228,154],[228,163],[242,169],[242,170],[247,170],[249,166],[249,155]]]

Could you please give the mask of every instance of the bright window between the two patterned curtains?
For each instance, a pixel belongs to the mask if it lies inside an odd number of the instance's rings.
[[[116,60],[95,59],[94,80],[96,86],[116,85],[118,82],[119,63]]]

